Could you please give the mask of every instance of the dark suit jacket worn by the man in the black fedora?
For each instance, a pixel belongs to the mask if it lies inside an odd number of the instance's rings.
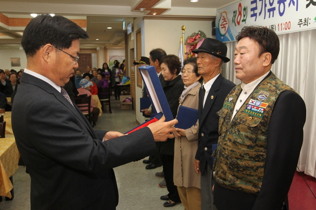
[[[235,87],[235,84],[228,79],[225,79],[220,74],[214,81],[211,89],[208,92],[203,110],[200,109],[201,91],[199,89],[198,100],[198,146],[196,159],[199,160],[199,169],[201,175],[204,175],[206,164],[213,168],[212,162],[212,144],[218,141],[218,120],[219,116],[216,114],[224,104],[226,96]]]

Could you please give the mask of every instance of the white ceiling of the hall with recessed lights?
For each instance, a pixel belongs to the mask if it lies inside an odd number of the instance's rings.
[[[146,12],[132,10],[132,4],[142,0],[0,0],[0,13],[8,17],[31,17],[30,13],[50,13],[73,19],[86,19],[89,40],[81,42],[80,48],[123,48],[123,20],[144,17]],[[144,0],[146,1],[146,0]],[[171,8],[159,15],[165,17],[215,17],[216,8],[236,0],[160,0],[171,1]],[[134,6],[135,8],[135,6]],[[181,15],[179,15],[179,11]],[[215,12],[214,12],[215,11]],[[167,14],[167,15],[166,15]],[[151,15],[152,16],[152,15]],[[107,27],[112,29],[107,29]],[[0,25],[0,49],[18,49],[24,28],[5,28]],[[99,40],[96,40],[98,38]]]

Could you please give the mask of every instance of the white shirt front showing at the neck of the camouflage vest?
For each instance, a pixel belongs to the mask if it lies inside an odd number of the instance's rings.
[[[238,112],[239,108],[245,103],[245,101],[247,100],[247,98],[250,96],[250,94],[252,93],[252,91],[257,87],[257,85],[269,74],[270,71],[268,71],[267,73],[265,73],[264,75],[262,75],[261,77],[259,77],[258,79],[245,84],[245,83],[241,83],[241,89],[242,89],[242,93],[239,95],[238,100],[236,102],[236,105],[234,107],[234,112],[232,114],[232,119],[233,120],[234,116],[236,115],[236,113]]]

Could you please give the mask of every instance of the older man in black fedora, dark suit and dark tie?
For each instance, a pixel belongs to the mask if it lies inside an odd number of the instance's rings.
[[[201,174],[201,210],[216,210],[213,201],[212,144],[218,140],[218,119],[216,114],[223,106],[227,94],[235,84],[221,75],[227,46],[213,38],[205,38],[197,53],[198,74],[203,77],[198,101],[198,146],[195,160],[197,174]]]

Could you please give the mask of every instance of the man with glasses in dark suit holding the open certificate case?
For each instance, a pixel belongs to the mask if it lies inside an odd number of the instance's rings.
[[[12,108],[12,129],[31,176],[31,210],[115,210],[112,168],[151,155],[155,140],[172,138],[177,120],[129,135],[94,131],[63,88],[78,68],[79,39],[62,16],[40,15],[26,27],[27,68]]]

